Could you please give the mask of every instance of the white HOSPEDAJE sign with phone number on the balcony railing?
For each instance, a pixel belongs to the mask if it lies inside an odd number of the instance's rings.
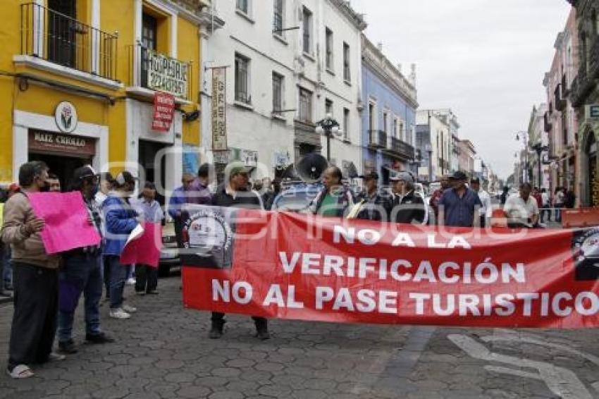
[[[149,89],[171,93],[175,97],[187,97],[189,79],[187,63],[147,50],[147,65]]]

